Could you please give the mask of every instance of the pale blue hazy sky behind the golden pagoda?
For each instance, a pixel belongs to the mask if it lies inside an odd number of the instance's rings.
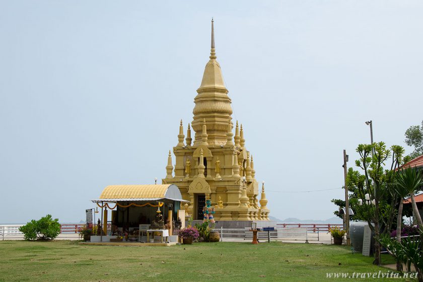
[[[423,119],[421,1],[0,0],[0,223],[166,176],[210,51],[270,215],[328,219],[358,144]],[[173,162],[175,159],[173,158]],[[328,190],[331,189],[331,190]],[[316,191],[325,190],[325,191]],[[304,192],[314,191],[314,192]]]

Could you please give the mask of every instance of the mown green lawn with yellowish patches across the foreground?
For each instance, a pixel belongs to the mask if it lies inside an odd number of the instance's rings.
[[[388,257],[383,257],[384,262],[394,263]],[[88,246],[75,241],[1,241],[0,281],[310,282],[327,279],[326,272],[390,271],[372,265],[372,260],[351,254],[344,246],[298,243],[131,247]]]

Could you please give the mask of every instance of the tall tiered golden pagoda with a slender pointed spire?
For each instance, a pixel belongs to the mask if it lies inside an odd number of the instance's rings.
[[[215,206],[215,220],[268,221],[264,182],[259,201],[253,156],[245,147],[242,124],[237,121],[235,136],[232,133],[231,98],[216,60],[213,20],[209,58],[194,98],[194,141],[189,124],[185,138],[181,120],[178,144],[173,147],[176,164],[173,167],[169,151],[162,183],[179,187],[182,197],[190,201],[182,208],[193,220],[203,219],[202,209],[209,198]]]

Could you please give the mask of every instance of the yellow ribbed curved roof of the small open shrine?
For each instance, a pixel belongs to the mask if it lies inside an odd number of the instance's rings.
[[[104,188],[98,200],[158,200],[171,199],[184,201],[178,186],[174,184],[148,185],[109,185]]]

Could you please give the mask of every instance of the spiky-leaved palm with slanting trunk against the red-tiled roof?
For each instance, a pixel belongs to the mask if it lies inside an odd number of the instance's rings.
[[[416,169],[406,168],[400,170],[395,176],[395,189],[404,189],[410,194],[411,205],[413,207],[413,214],[417,220],[418,226],[423,227],[420,214],[418,213],[417,205],[414,200],[414,193],[423,185],[423,177]],[[402,204],[402,201],[400,205]],[[397,227],[398,229],[398,227]],[[398,236],[398,234],[397,234]]]

